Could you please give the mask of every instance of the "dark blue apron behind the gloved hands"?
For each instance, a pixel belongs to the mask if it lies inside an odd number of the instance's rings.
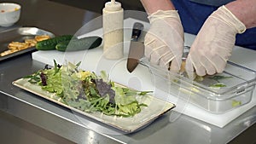
[[[197,34],[207,17],[232,0],[172,0],[183,23],[184,32]],[[236,45],[256,50],[256,27],[236,35]]]

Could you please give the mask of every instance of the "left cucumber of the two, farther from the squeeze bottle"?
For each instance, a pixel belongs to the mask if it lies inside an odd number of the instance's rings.
[[[70,41],[73,35],[63,35],[58,37],[49,38],[43,41],[40,41],[36,44],[36,49],[38,50],[54,50],[57,43],[63,41]]]

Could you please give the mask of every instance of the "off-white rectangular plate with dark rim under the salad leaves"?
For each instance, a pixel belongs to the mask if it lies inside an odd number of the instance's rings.
[[[152,123],[154,119],[159,118],[161,115],[175,107],[174,104],[168,101],[162,101],[152,95],[143,95],[139,96],[137,101],[147,104],[148,107],[143,107],[142,111],[134,117],[122,118],[117,116],[107,116],[102,114],[102,112],[82,112],[79,109],[67,106],[64,103],[61,103],[61,101],[58,101],[55,94],[42,90],[40,86],[29,83],[25,78],[15,80],[13,84],[21,89],[25,89],[26,91],[43,97],[44,99],[53,101],[62,107],[67,107],[75,112],[83,114],[84,116],[96,119],[103,124],[108,124],[116,129],[125,131],[126,133],[131,133],[147,126],[148,124]]]

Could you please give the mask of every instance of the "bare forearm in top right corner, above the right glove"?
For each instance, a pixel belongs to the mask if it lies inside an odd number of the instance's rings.
[[[236,0],[225,5],[247,27],[256,26],[256,0]]]

